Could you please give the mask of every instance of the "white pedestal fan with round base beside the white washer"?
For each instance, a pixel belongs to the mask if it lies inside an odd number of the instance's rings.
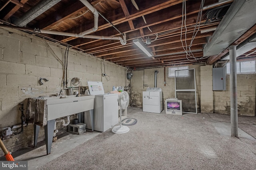
[[[130,128],[122,125],[122,109],[126,109],[129,105],[129,94],[126,91],[122,92],[117,101],[120,106],[120,125],[113,127],[112,132],[126,133],[130,131]]]

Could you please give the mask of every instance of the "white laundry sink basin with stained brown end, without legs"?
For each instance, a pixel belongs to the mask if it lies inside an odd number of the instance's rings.
[[[94,95],[42,96],[28,99],[26,119],[44,126],[47,121],[66,117],[94,107]]]

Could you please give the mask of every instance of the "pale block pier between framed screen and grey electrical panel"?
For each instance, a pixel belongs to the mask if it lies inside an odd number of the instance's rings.
[[[213,113],[212,65],[200,67],[201,112]]]

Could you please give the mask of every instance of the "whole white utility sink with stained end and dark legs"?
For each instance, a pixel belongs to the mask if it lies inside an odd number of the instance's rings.
[[[46,152],[50,154],[56,119],[84,111],[90,111],[90,124],[94,130],[94,95],[42,96],[29,98],[26,120],[34,123],[34,147],[40,126],[44,126]],[[87,113],[86,113],[87,115]],[[86,116],[87,117],[87,116]]]

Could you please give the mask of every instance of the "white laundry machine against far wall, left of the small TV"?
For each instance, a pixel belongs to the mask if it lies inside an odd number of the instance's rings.
[[[148,87],[146,92],[142,92],[143,111],[151,113],[161,113],[163,110],[163,92],[161,88]]]

